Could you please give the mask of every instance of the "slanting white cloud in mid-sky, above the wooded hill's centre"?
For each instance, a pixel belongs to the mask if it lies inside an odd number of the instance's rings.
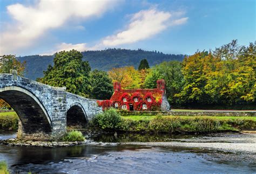
[[[150,38],[166,30],[169,26],[186,23],[187,17],[177,19],[180,15],[183,15],[183,12],[174,12],[176,18],[172,19],[172,13],[170,12],[158,11],[157,9],[139,11],[131,16],[130,23],[125,30],[105,37],[95,47],[131,44]]]

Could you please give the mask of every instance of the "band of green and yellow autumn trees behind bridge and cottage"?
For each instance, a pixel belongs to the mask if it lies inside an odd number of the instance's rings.
[[[37,81],[65,86],[68,92],[87,98],[107,100],[113,93],[112,83],[115,81],[121,82],[122,88],[136,89],[156,88],[156,81],[164,79],[172,107],[255,109],[255,56],[256,42],[240,46],[237,40],[232,40],[214,50],[197,51],[183,61],[163,61],[149,67],[150,60],[146,58],[140,59],[139,69],[124,66],[92,71],[89,61],[84,61],[83,53],[62,51],[55,54],[53,65],[49,65],[43,78],[37,78]],[[6,56],[4,58],[8,62]],[[24,69],[24,63],[19,65]],[[8,68],[1,69],[8,71]]]

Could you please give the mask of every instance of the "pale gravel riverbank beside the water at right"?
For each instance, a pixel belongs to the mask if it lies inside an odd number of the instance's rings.
[[[256,155],[256,134],[213,134],[197,138],[170,139],[169,141],[171,142],[127,142],[124,144],[147,145],[151,147],[200,148]]]

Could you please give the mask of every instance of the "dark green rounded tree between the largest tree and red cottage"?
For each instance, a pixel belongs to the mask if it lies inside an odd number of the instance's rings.
[[[107,100],[113,94],[112,80],[106,72],[95,69],[91,72],[91,97],[93,99]]]

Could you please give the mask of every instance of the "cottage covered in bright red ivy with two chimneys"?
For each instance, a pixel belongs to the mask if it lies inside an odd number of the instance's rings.
[[[127,110],[170,110],[165,95],[165,81],[157,80],[155,89],[122,89],[120,82],[114,82],[114,93],[109,105]]]

